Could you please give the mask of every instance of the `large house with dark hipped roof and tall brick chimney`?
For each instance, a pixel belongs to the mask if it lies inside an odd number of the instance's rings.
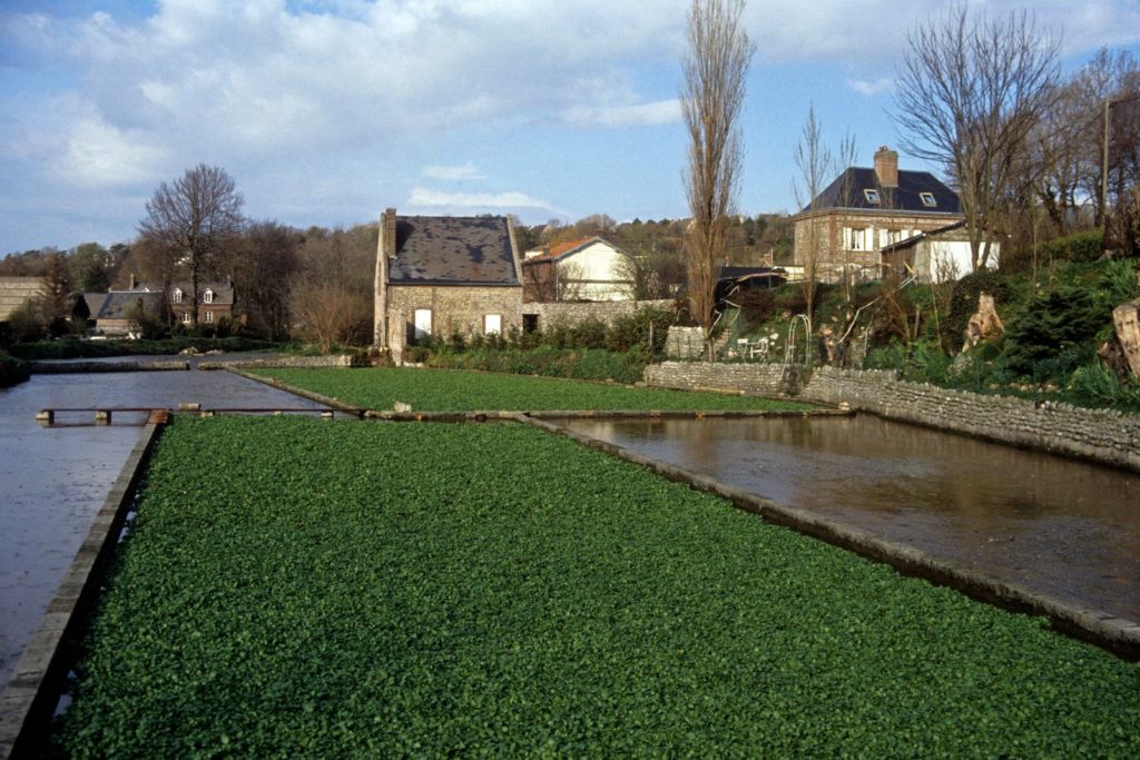
[[[873,167],[844,170],[792,219],[793,264],[809,268],[814,252],[816,279],[830,283],[878,278],[882,248],[964,216],[953,190],[929,172],[899,170],[883,146]]]

